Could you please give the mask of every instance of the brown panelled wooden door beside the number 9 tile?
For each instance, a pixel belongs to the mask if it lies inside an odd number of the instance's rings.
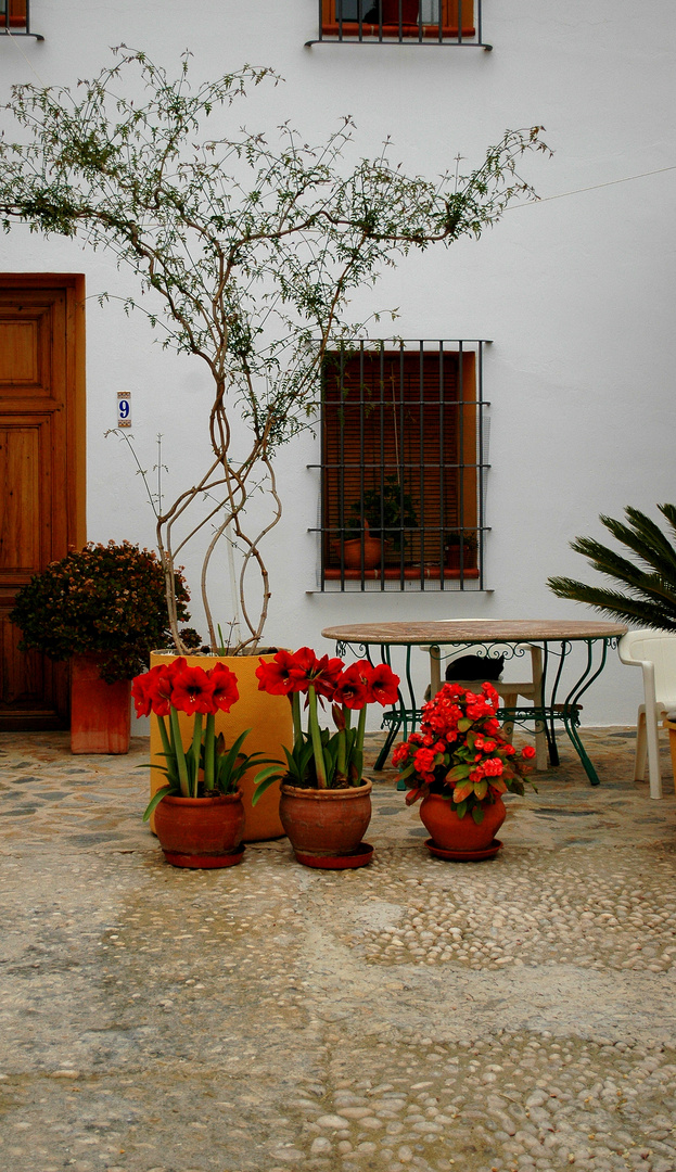
[[[0,277],[0,730],[67,728],[68,666],[18,648],[18,590],[84,541],[82,293]]]

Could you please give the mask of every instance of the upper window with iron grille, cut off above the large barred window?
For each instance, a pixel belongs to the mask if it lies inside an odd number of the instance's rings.
[[[319,0],[319,34],[306,45],[460,45],[490,50],[482,0]]]

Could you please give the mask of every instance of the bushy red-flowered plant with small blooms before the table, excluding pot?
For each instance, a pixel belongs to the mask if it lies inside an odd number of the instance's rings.
[[[480,693],[458,683],[445,683],[429,704],[423,704],[419,732],[397,745],[397,765],[410,793],[411,805],[426,793],[449,798],[459,818],[471,811],[478,824],[484,805],[510,790],[524,793],[527,765],[535,756],[532,745],[517,750],[500,732],[496,713],[499,697],[490,683]]]

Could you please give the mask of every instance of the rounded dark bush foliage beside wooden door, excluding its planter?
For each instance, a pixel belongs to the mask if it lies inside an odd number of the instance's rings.
[[[190,597],[180,573],[176,590],[183,621]],[[129,680],[170,639],[164,571],[151,550],[90,541],[34,574],[9,619],[21,629],[21,650],[35,648],[52,660],[97,654],[102,680]]]

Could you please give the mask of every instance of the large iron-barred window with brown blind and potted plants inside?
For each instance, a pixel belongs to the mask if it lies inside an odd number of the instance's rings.
[[[362,341],[322,370],[321,591],[484,590],[484,341]]]

